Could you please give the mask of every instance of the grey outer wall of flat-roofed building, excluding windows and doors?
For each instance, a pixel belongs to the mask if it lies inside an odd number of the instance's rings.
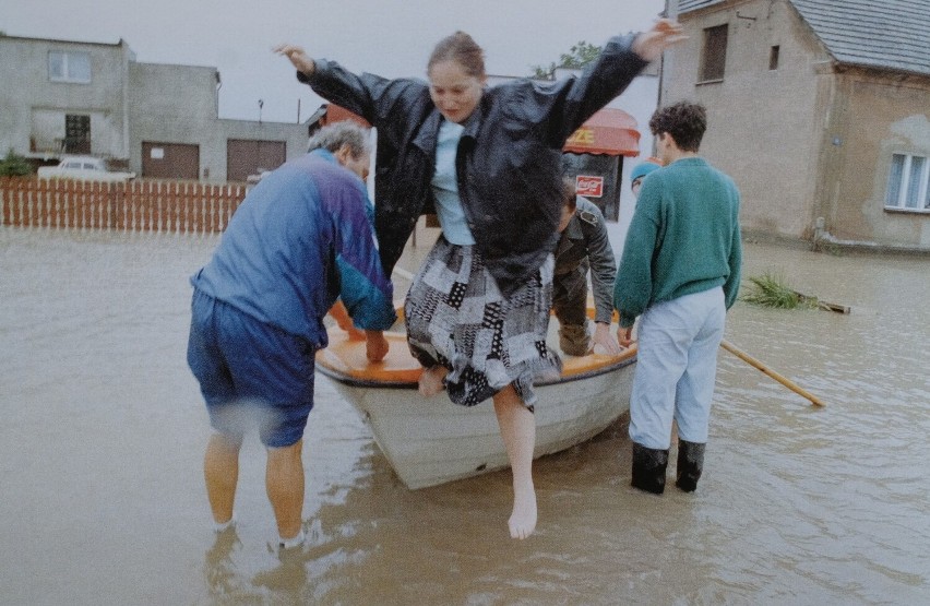
[[[52,82],[51,50],[86,52],[91,82]],[[79,43],[0,36],[0,153],[51,161],[64,116],[91,117],[91,153],[142,173],[142,143],[196,145],[201,180],[225,182],[229,139],[284,141],[287,158],[307,151],[307,123],[218,118],[216,68],[140,63],[126,41]],[[14,83],[15,85],[5,85]],[[32,151],[34,150],[34,151]]]

